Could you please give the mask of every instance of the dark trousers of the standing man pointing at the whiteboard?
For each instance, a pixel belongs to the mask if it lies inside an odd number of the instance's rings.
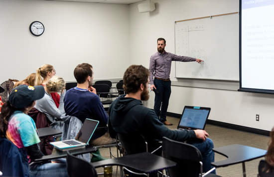
[[[160,121],[164,122],[166,121],[166,111],[171,94],[171,81],[154,78],[154,85],[158,92],[155,92],[154,111],[156,115],[160,117]]]

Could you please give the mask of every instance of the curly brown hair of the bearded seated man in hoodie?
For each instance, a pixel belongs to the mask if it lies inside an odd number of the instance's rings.
[[[126,93],[136,93],[140,85],[146,86],[149,71],[142,65],[131,65],[123,77],[123,87]]]

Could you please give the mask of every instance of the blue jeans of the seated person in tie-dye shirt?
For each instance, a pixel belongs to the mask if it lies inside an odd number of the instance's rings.
[[[29,166],[29,177],[68,177],[66,159],[59,163],[32,164]]]

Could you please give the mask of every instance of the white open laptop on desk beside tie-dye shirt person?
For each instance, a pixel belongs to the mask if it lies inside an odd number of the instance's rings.
[[[89,144],[89,141],[97,128],[99,121],[86,119],[75,140],[64,140],[58,142],[51,142],[50,144],[59,150],[71,150],[84,148]]]

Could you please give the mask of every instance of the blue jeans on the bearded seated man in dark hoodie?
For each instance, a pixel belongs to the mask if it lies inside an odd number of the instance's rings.
[[[195,146],[202,154],[203,160],[203,173],[206,173],[210,169],[213,168],[211,163],[214,162],[214,152],[212,149],[214,148],[213,141],[209,138],[204,142],[200,142],[199,140],[187,141],[188,144]],[[212,174],[216,174],[216,171],[212,171]]]

